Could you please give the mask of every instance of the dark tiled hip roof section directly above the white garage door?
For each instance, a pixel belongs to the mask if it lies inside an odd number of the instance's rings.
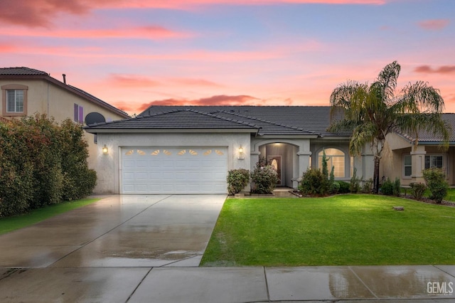
[[[257,132],[258,127],[196,110],[169,110],[131,119],[90,124],[85,129],[250,129],[251,132]]]

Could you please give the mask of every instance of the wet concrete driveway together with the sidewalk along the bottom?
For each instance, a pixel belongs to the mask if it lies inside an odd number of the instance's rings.
[[[110,196],[0,236],[0,302],[455,302],[455,266],[198,267],[224,196]]]

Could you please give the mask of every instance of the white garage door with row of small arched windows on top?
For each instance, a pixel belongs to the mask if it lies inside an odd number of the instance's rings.
[[[122,193],[227,193],[226,147],[122,148]]]

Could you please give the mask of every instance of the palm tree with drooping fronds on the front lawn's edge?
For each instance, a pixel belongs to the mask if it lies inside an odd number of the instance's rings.
[[[374,83],[348,81],[333,90],[331,102],[331,132],[351,130],[349,153],[359,155],[365,144],[373,151],[375,169],[373,191],[379,190],[379,164],[385,137],[400,130],[414,135],[424,130],[442,134],[442,147],[449,147],[449,131],[441,112],[444,100],[439,90],[428,83],[418,81],[406,85],[396,94],[400,65],[394,61],[385,66]]]

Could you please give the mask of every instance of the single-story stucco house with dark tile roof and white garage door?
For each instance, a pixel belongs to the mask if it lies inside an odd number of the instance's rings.
[[[329,124],[330,107],[152,106],[85,130],[106,147],[97,193],[227,193],[228,171],[252,170],[259,156],[276,166],[278,186],[297,188],[324,150],[336,179],[349,181],[354,166],[373,176],[371,153],[349,156],[350,134],[327,132]]]

